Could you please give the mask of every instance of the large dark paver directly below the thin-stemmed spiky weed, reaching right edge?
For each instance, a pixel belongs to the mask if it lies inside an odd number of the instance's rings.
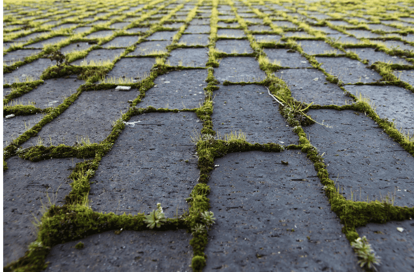
[[[361,201],[367,197],[369,201],[381,200],[389,194],[390,198],[395,196],[396,206],[414,205],[414,198],[403,190],[414,191],[414,158],[373,120],[350,110],[309,110],[309,114],[333,127],[313,124],[303,130],[310,133],[310,143],[325,152],[329,177],[343,188],[346,199],[350,200],[352,190],[357,201],[360,194]]]

